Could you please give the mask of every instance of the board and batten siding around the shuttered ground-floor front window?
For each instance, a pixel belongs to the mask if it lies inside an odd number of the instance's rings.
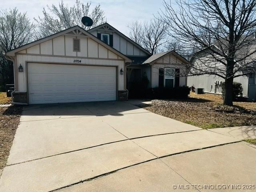
[[[181,65],[182,64],[182,65]],[[156,60],[155,64],[151,66],[152,70],[152,88],[158,87],[159,80],[159,68],[179,68],[181,77],[180,77],[180,86],[186,86],[186,77],[182,76],[182,72],[185,71],[183,62],[178,59],[173,54],[166,55],[158,60]],[[183,69],[183,70],[182,70]]]

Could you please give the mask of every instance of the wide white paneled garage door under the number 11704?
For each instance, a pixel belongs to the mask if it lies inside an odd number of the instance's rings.
[[[30,104],[116,100],[116,67],[28,63]]]

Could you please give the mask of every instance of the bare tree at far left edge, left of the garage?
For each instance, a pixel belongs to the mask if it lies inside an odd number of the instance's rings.
[[[2,52],[12,50],[32,40],[34,24],[26,13],[17,8],[0,12],[0,86],[13,83],[13,63],[6,60]]]

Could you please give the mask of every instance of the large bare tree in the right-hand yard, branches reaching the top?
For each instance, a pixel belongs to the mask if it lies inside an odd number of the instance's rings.
[[[178,10],[176,9],[178,6]],[[256,72],[255,0],[164,1],[161,20],[168,35],[196,52],[190,75],[210,74],[225,79],[223,104],[233,105],[233,80]]]

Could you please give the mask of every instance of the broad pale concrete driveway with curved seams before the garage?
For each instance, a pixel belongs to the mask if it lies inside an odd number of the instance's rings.
[[[177,191],[174,184],[255,184],[250,172],[256,168],[255,148],[131,103],[26,106],[0,191]]]

